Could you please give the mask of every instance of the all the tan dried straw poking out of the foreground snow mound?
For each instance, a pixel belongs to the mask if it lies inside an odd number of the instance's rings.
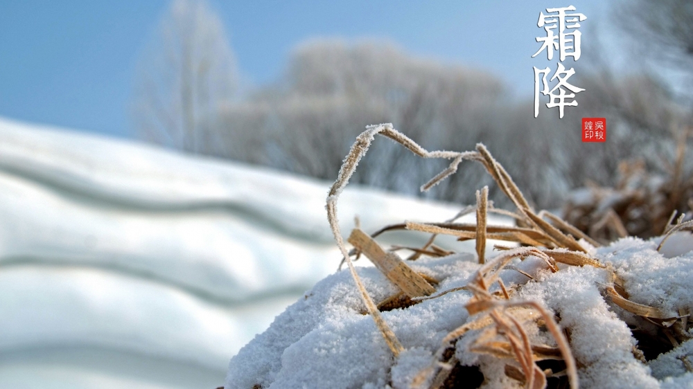
[[[459,212],[458,215],[443,223],[405,221],[402,224],[386,226],[372,235],[367,235],[360,228],[356,228],[349,237],[349,243],[353,244],[354,248],[348,251],[337,221],[337,203],[344,186],[347,185],[349,178],[356,171],[358,162],[366,154],[369,145],[376,135],[390,138],[422,158],[451,160],[448,168],[421,186],[422,191],[429,190],[442,179],[445,179],[450,174],[454,174],[459,163],[462,163],[463,160],[475,161],[481,163],[486,168],[486,171],[493,177],[502,192],[514,203],[516,210],[493,208],[492,203],[488,201],[488,188],[484,187],[482,190],[477,191],[477,204],[475,207],[467,207]],[[471,319],[466,324],[451,331],[444,338],[436,354],[437,363],[416,375],[413,382],[414,387],[422,387],[424,383],[429,381],[432,382],[428,386],[429,388],[449,386],[451,372],[459,372],[459,369],[462,368],[459,366],[457,359],[455,359],[455,353],[450,352],[450,350],[454,350],[455,343],[459,338],[471,331],[474,332],[471,351],[507,360],[505,365],[507,377],[516,379],[525,388],[544,388],[547,383],[547,377],[559,377],[562,375],[568,378],[571,388],[578,387],[577,361],[572,356],[564,329],[561,329],[556,324],[554,315],[537,302],[516,300],[513,297],[514,287],[507,288],[499,277],[499,273],[503,269],[516,269],[514,266],[509,266],[511,261],[516,258],[520,258],[520,260],[524,260],[529,256],[539,258],[545,262],[546,269],[553,272],[561,269],[558,264],[594,266],[607,269],[611,271],[613,283],[606,287],[606,293],[616,305],[644,319],[651,320],[663,328],[672,327],[676,323],[672,328],[678,329],[680,324],[686,323],[685,320],[687,320],[687,316],[683,315],[666,317],[667,315],[662,314],[656,307],[640,305],[628,300],[628,293],[623,289],[622,282],[613,273],[613,269],[608,268],[588,253],[588,247],[599,246],[600,240],[603,239],[590,236],[586,234],[584,228],[574,226],[570,222],[572,220],[570,219],[570,212],[568,212],[568,219],[562,219],[546,210],[535,212],[506,170],[493,159],[491,153],[482,144],[478,144],[476,150],[472,152],[429,152],[410,138],[407,138],[407,136],[397,132],[390,124],[367,127],[366,131],[358,136],[356,143],[353,144],[349,154],[344,159],[337,180],[329,191],[326,208],[335,241],[342,252],[342,261],[349,266],[351,276],[354,282],[356,282],[356,287],[365,304],[366,311],[364,313],[373,317],[380,334],[382,334],[385,343],[387,343],[395,357],[404,350],[404,347],[389,325],[387,325],[383,316],[380,315],[380,311],[409,307],[423,300],[439,298],[446,293],[462,289],[471,292],[473,295],[465,306]],[[468,215],[471,212],[476,214],[476,222],[474,224],[457,222],[459,217]],[[516,219],[518,226],[489,226],[489,213],[512,217]],[[614,216],[616,214],[607,212],[606,215],[607,218],[608,215],[611,215],[611,219],[603,221],[604,226],[615,228],[618,234],[624,233],[624,226],[619,224],[621,219]],[[667,219],[667,226],[672,221],[673,217]],[[681,223],[681,219],[678,219],[678,224],[669,227],[668,232],[671,234],[685,228],[693,228],[691,226],[693,224],[690,224],[690,222]],[[374,240],[375,237],[389,230],[403,229],[430,233],[431,235],[426,244],[421,248],[395,246],[391,251],[385,251]],[[416,273],[407,265],[407,262],[416,260],[422,255],[430,257],[449,255],[450,251],[435,245],[437,235],[451,235],[459,240],[475,239],[477,258],[481,267],[477,271],[475,278],[468,282],[466,286],[446,291],[437,291],[437,280],[432,280],[427,278],[426,275]],[[488,254],[485,252],[486,239],[504,240],[524,246],[519,248],[499,247],[501,249],[500,253],[488,259]],[[578,239],[584,242],[584,244],[581,244]],[[402,260],[394,252],[403,249],[412,251],[412,255],[407,260]],[[385,298],[385,300],[376,305],[365,287],[363,287],[352,263],[353,259],[358,258],[361,254],[364,254],[374,262],[381,273],[400,289],[400,292]],[[520,271],[519,269],[516,270]],[[534,282],[532,275],[523,271],[520,271],[520,273],[527,275],[527,282]],[[491,292],[490,288],[494,284],[498,284],[499,289]],[[538,315],[536,315],[537,313]],[[553,339],[555,345],[545,345],[533,341],[529,334],[540,330],[550,334],[550,338]],[[543,369],[537,363],[545,360],[560,361],[559,366],[564,365],[564,368],[561,368],[561,371]]]

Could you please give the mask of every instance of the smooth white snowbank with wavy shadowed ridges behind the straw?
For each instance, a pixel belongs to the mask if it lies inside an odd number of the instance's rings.
[[[222,385],[339,264],[330,184],[0,118],[0,388]],[[340,198],[343,230],[457,210]]]

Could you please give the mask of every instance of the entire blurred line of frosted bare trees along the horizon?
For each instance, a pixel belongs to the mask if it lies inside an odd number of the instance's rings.
[[[690,125],[690,109],[651,76],[582,71],[574,75],[586,89],[578,107],[566,108],[560,120],[546,108],[534,118],[532,96],[509,98],[494,75],[412,57],[384,42],[308,42],[280,80],[238,93],[231,51],[218,48],[228,47],[223,28],[204,3],[175,1],[160,32],[134,96],[144,138],[319,179],[336,178],[365,126],[393,123],[428,150],[473,150],[482,142],[530,201],[559,206],[588,181],[613,183],[621,161],[666,169]],[[583,117],[607,119],[606,143],[582,143]],[[353,181],[418,194],[442,166],[385,140],[373,147]],[[486,181],[478,166],[463,164],[424,195],[473,203],[473,188]],[[495,186],[490,194],[502,199]]]

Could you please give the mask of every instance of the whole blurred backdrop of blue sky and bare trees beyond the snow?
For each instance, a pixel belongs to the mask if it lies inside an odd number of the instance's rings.
[[[690,2],[571,4],[587,19],[564,63],[586,91],[562,120],[543,103],[532,116],[532,66],[557,62],[531,57],[538,14],[569,5],[550,1],[5,3],[0,115],[320,179],[365,125],[392,122],[429,149],[486,143],[534,203],[558,206],[624,159],[661,168],[689,112]],[[581,143],[582,117],[607,118],[606,144]],[[416,195],[441,166],[376,150],[356,181]],[[469,202],[460,186],[483,177],[426,195]]]

